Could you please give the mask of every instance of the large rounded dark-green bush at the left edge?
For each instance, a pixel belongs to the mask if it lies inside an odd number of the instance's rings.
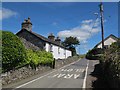
[[[2,69],[15,69],[27,61],[25,48],[20,39],[11,32],[2,31]]]

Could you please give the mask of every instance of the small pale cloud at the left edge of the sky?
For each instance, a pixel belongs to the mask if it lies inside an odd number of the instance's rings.
[[[7,8],[0,9],[0,20],[16,16],[18,13]]]

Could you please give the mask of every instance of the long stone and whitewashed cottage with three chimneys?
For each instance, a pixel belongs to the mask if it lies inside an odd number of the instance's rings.
[[[16,34],[22,40],[27,49],[45,50],[51,52],[55,59],[64,59],[72,55],[72,52],[61,44],[59,37],[51,33],[48,38],[34,33],[30,18],[24,20],[22,29]]]

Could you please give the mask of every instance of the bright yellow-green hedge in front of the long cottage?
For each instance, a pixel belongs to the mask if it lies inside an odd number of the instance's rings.
[[[38,65],[52,65],[53,55],[46,51],[33,51],[30,49],[26,50],[28,57],[28,64],[32,68],[36,68]]]

